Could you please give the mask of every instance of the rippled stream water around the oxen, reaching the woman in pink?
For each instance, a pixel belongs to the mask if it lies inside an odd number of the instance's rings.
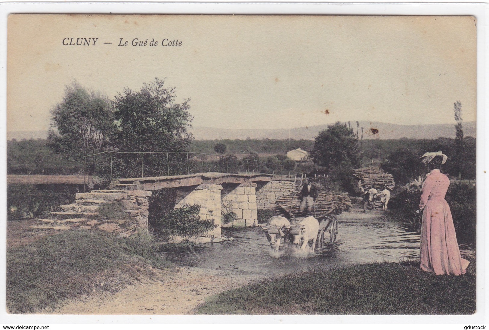
[[[297,258],[294,249],[287,249],[274,258],[260,228],[223,228],[222,234],[234,237],[233,241],[213,246],[162,248],[161,252],[181,266],[265,276],[351,263],[419,258],[419,234],[381,218],[355,219],[351,213],[345,215],[338,218],[338,244],[308,258]]]

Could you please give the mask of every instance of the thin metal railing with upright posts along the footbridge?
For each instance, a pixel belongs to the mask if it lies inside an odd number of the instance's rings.
[[[100,175],[110,179],[170,176],[201,172],[259,173],[282,172],[284,166],[239,158],[190,151],[103,151],[83,156],[84,176]]]

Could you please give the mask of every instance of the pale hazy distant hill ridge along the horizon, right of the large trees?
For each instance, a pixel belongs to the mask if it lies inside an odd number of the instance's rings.
[[[352,122],[356,132],[356,122]],[[384,122],[360,121],[364,139],[438,139],[455,138],[455,123],[431,125],[397,125]],[[294,139],[313,140],[317,134],[328,128],[328,125],[298,127],[291,129],[224,129],[213,127],[193,127],[190,131],[196,140],[222,139]],[[475,121],[464,122],[464,136],[476,136]],[[373,129],[373,130],[371,130]],[[373,131],[378,131],[374,134]],[[361,131],[359,132],[361,135]]]

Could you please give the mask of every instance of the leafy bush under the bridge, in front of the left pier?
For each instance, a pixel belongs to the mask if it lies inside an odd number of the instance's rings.
[[[179,209],[164,214],[156,225],[161,233],[167,235],[194,236],[202,235],[217,227],[214,219],[200,218],[200,205],[184,205]]]

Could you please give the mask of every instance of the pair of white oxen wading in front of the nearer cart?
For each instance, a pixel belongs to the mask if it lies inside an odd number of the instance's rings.
[[[267,227],[262,228],[267,234],[270,247],[275,252],[278,252],[282,239],[284,239],[284,246],[290,241],[301,250],[306,250],[312,242],[311,250],[314,252],[319,221],[313,216],[294,218],[292,221],[283,216],[272,216],[267,221]]]

